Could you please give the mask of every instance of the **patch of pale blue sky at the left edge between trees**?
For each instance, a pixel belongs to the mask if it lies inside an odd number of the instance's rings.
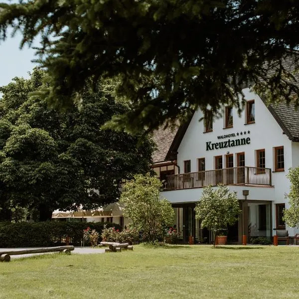
[[[37,65],[31,62],[35,59],[35,50],[28,48],[28,45],[20,49],[20,41],[20,34],[10,37],[10,33],[5,41],[0,41],[0,86],[7,85],[14,77],[28,78],[28,72]]]

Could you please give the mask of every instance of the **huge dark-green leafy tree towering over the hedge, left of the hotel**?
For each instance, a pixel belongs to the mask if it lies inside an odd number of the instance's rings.
[[[28,97],[47,85],[37,68],[30,79],[0,88],[0,206],[36,210],[41,221],[55,209],[116,201],[123,179],[149,171],[153,149],[148,137],[100,130],[129,109],[115,102],[113,81],[99,81],[94,92],[86,88],[80,109],[75,104],[63,113]]]

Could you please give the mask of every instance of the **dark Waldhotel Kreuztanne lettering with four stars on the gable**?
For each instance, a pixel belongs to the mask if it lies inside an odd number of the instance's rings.
[[[250,145],[250,137],[247,137],[247,134],[250,134],[250,131],[231,133],[227,135],[217,136],[218,140],[227,139],[226,141],[219,141],[212,143],[211,141],[206,142],[206,150],[213,149],[226,149],[238,146]],[[243,137],[244,136],[244,137]],[[231,139],[232,137],[238,137],[237,139]]]

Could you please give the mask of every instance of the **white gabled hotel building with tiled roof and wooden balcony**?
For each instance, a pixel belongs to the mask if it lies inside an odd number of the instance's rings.
[[[299,112],[285,104],[267,107],[249,88],[243,90],[246,107],[241,116],[232,107],[223,117],[211,119],[196,111],[189,123],[173,132],[154,133],[158,150],[153,169],[165,179],[162,196],[175,210],[175,225],[185,242],[210,242],[200,229],[194,207],[204,186],[218,183],[237,193],[243,210],[238,223],[228,230],[228,242],[241,243],[242,235],[272,237],[276,229],[298,230],[285,225],[286,193],[290,167],[299,166]],[[199,120],[204,117],[205,121]],[[246,195],[248,194],[248,195]]]

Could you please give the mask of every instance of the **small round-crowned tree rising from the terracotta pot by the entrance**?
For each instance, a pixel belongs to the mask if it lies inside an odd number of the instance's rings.
[[[203,189],[195,207],[195,218],[201,221],[201,227],[214,232],[215,246],[219,232],[235,224],[241,212],[236,193],[230,193],[227,186],[219,184],[215,189],[212,186]]]

